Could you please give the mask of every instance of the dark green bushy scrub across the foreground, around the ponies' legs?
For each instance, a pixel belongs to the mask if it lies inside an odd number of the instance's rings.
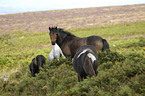
[[[60,58],[59,60],[47,61],[44,69],[41,69],[36,77],[31,77],[28,66],[13,73],[9,77],[9,81],[1,82],[0,91],[3,92],[1,94],[56,96],[143,94],[143,84],[139,82],[144,83],[145,61],[139,61],[136,64],[136,61],[128,57],[125,59],[117,52],[99,54],[99,60],[103,60],[102,55],[104,54],[108,54],[106,58],[109,59],[100,63],[97,77],[78,82],[77,73],[74,71],[72,63],[67,59]],[[112,61],[111,56],[120,58]]]

